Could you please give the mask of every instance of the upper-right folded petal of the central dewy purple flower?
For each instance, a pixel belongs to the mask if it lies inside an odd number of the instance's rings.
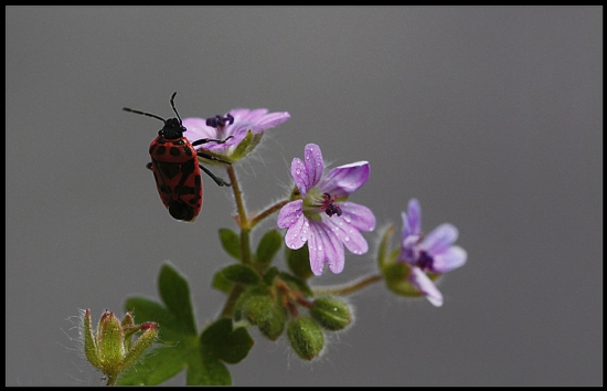
[[[318,183],[323,193],[350,196],[369,180],[369,162],[358,161],[331,169]]]

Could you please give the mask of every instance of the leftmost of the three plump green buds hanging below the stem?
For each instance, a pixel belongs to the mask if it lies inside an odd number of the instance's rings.
[[[243,315],[269,340],[276,340],[285,329],[287,313],[268,296],[253,296],[246,304]]]

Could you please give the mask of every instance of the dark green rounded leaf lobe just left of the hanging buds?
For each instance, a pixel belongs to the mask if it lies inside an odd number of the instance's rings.
[[[221,318],[209,325],[202,331],[200,342],[203,353],[212,353],[227,363],[242,361],[254,344],[244,327],[232,328],[230,318]]]

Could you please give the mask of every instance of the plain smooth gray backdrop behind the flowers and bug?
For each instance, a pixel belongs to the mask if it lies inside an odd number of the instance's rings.
[[[468,251],[443,308],[377,284],[318,362],[254,331],[235,384],[601,384],[601,8],[7,8],[7,384],[99,384],[67,318],[158,297],[164,261],[199,325],[221,309],[231,192],[205,178],[173,221],[145,168],[161,124],[120,110],[171,116],[173,91],[183,117],[291,114],[238,167],[251,210],[316,142],[370,161],[352,200],[379,229],[416,197]],[[379,232],[313,283],[372,273]]]

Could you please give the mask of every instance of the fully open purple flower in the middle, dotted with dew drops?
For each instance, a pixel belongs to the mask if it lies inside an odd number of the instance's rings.
[[[292,159],[291,176],[301,199],[286,204],[278,214],[278,226],[288,229],[285,243],[297,250],[308,242],[310,267],[322,274],[324,264],[331,272],[343,271],[343,246],[354,253],[369,250],[360,231],[373,231],[375,216],[366,207],[345,200],[369,179],[369,162],[358,161],[331,169],[327,175],[324,160],[316,144],[308,144],[303,161]]]

